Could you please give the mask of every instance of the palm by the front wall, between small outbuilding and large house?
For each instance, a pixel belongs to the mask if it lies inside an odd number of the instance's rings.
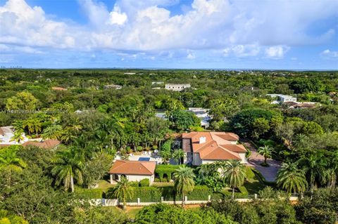
[[[194,170],[189,167],[180,166],[174,173],[175,190],[182,194],[182,207],[185,205],[185,195],[194,190]]]

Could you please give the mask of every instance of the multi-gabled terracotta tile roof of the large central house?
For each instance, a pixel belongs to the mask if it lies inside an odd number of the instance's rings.
[[[190,139],[192,146],[189,144],[183,144],[184,151],[192,150],[195,153],[199,153],[201,159],[211,160],[226,160],[226,159],[238,159],[239,152],[246,152],[243,145],[235,145],[234,141],[239,140],[239,137],[235,133],[226,132],[191,132],[182,133],[183,141]],[[200,143],[200,138],[205,138],[204,143]]]

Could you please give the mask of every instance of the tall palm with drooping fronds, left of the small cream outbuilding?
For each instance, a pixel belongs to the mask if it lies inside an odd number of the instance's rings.
[[[51,173],[56,176],[56,185],[60,185],[63,181],[65,190],[70,187],[74,192],[74,179],[77,183],[82,183],[83,164],[77,153],[71,149],[58,151],[54,163],[55,166]]]

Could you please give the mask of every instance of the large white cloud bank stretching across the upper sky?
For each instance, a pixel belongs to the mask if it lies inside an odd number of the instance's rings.
[[[0,44],[170,52],[170,57],[182,49],[223,49],[225,56],[265,53],[269,58],[282,58],[287,46],[318,44],[332,38],[337,29],[308,34],[313,22],[338,16],[338,1],[194,0],[179,15],[164,8],[177,0],[116,0],[112,9],[99,0],[77,1],[89,25],[49,19],[39,6],[8,0],[0,6]],[[323,55],[337,55],[334,52]]]

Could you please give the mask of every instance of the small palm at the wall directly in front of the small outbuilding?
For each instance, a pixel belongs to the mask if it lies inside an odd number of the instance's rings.
[[[131,183],[125,176],[121,176],[115,187],[110,188],[107,192],[108,197],[116,197],[123,200],[123,210],[127,208],[127,198],[132,198],[133,195]]]

